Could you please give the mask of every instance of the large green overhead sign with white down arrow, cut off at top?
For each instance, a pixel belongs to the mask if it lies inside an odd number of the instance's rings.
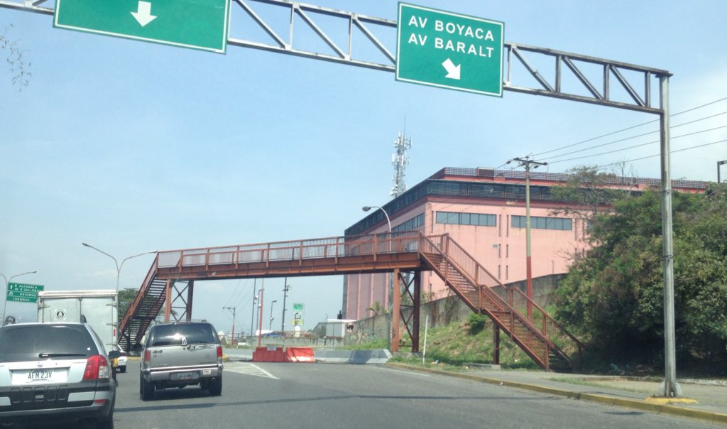
[[[53,26],[225,53],[230,0],[56,0]]]

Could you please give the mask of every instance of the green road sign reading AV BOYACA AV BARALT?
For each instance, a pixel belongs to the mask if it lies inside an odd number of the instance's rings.
[[[505,23],[399,3],[396,80],[502,97]]]

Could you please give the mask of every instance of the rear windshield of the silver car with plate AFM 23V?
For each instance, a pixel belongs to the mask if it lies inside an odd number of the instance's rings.
[[[98,354],[81,325],[11,325],[0,329],[0,362],[87,358]]]

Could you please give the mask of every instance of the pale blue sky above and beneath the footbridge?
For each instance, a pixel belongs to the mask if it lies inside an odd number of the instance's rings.
[[[310,4],[397,19],[395,1]],[[502,21],[506,41],[666,69],[674,74],[672,113],[727,97],[723,1],[418,4]],[[285,14],[260,8],[287,33]],[[231,37],[268,41],[234,2],[232,10]],[[0,7],[0,31],[11,24],[6,35],[33,74],[20,91],[0,69],[0,273],[38,270],[16,280],[46,289],[115,286],[113,261],[82,241],[121,261],[151,249],[340,236],[363,217],[362,206],[390,199],[393,141],[405,119],[414,142],[410,187],[442,167],[499,167],[656,119],[507,91],[498,98],[423,87],[390,72],[235,46],[218,55],[55,29],[52,16]],[[345,36],[334,25],[327,30]],[[309,36],[296,37],[318,49]],[[395,51],[395,31],[379,38]],[[672,125],[724,111],[727,101],[720,101],[675,116]],[[672,137],[722,127],[726,117],[672,129]],[[579,148],[656,129],[648,124]],[[725,139],[718,128],[675,138],[672,150]],[[553,163],[549,171],[657,153],[658,145],[647,145]],[[727,143],[680,152],[672,177],[716,180],[723,159]],[[640,177],[659,177],[658,157],[629,165]],[[121,287],[139,287],[152,260],[126,261]],[[338,276],[289,284],[289,308],[305,303],[306,329],[342,307]],[[265,324],[270,300],[278,300],[279,329],[283,280],[266,285]],[[232,315],[222,307],[236,306],[236,330],[248,331],[251,297],[252,280],[198,283],[193,316],[229,330]],[[33,311],[32,304],[8,304],[8,313]]]

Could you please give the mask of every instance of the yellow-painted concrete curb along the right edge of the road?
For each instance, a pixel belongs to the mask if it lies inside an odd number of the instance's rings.
[[[715,412],[707,412],[699,409],[683,408],[680,406],[674,406],[671,404],[653,404],[644,400],[627,399],[627,398],[616,398],[614,396],[597,395],[595,393],[580,393],[572,390],[563,390],[557,388],[549,388],[547,386],[536,385],[524,382],[513,382],[509,380],[481,377],[473,374],[462,374],[457,372],[447,372],[440,369],[429,369],[422,368],[419,366],[409,366],[405,364],[389,363],[387,366],[395,366],[401,369],[409,369],[411,371],[419,372],[430,372],[432,374],[446,375],[449,377],[457,377],[465,380],[473,380],[477,382],[486,382],[494,385],[507,385],[512,388],[519,388],[523,390],[531,390],[539,393],[547,393],[554,396],[562,396],[564,398],[577,399],[579,401],[590,401],[598,404],[620,406],[628,409],[638,409],[640,411],[654,412],[657,414],[667,414],[677,417],[686,417],[689,419],[700,420],[702,422],[710,422],[715,425],[727,424],[727,414],[720,414]]]

